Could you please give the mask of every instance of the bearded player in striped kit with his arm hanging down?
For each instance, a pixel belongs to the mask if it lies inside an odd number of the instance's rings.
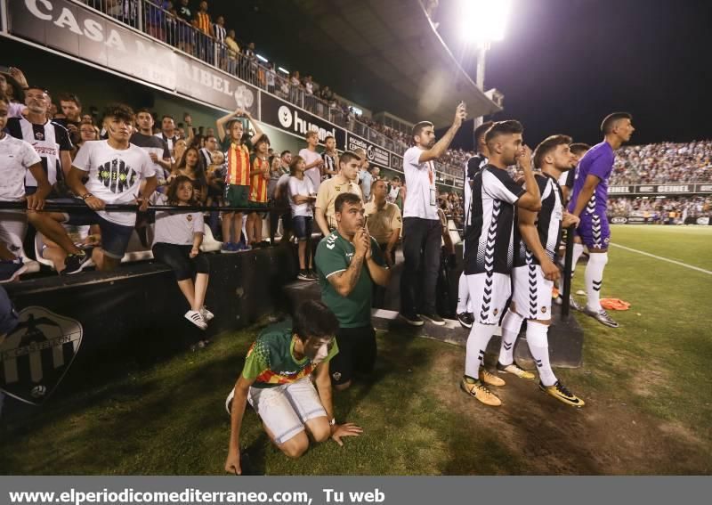
[[[582,407],[583,400],[556,379],[549,363],[547,332],[551,323],[551,292],[559,278],[554,265],[556,248],[561,240],[562,224],[578,224],[578,218],[563,212],[562,190],[557,182],[563,172],[576,167],[570,151],[571,138],[552,135],[534,151],[534,166],[541,173],[534,176],[541,195],[541,209],[537,212],[517,209],[518,232],[514,234],[514,293],[502,321],[502,346],[497,369],[521,377],[534,379],[530,371],[522,370],[514,362],[514,342],[527,320],[527,345],[537,363],[539,387],[557,400]]]

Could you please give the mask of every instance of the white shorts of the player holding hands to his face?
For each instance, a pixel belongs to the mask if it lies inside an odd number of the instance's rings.
[[[506,273],[465,275],[476,322],[499,324],[506,302],[512,295],[512,284]]]

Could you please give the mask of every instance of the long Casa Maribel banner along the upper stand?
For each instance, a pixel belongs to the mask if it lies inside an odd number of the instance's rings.
[[[67,0],[8,2],[12,35],[27,38],[225,110],[258,111],[258,91],[98,12]]]

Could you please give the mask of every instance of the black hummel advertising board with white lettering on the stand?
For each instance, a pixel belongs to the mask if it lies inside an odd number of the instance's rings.
[[[260,92],[260,121],[301,138],[309,131],[317,132],[320,143],[328,135],[336,139],[337,146],[346,143],[346,134],[340,127],[263,92]]]

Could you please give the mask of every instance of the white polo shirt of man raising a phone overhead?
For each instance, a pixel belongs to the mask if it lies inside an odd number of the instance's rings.
[[[418,163],[423,151],[425,150],[413,146],[403,155],[403,172],[408,188],[408,196],[403,204],[403,217],[438,219],[435,167],[433,161]]]

